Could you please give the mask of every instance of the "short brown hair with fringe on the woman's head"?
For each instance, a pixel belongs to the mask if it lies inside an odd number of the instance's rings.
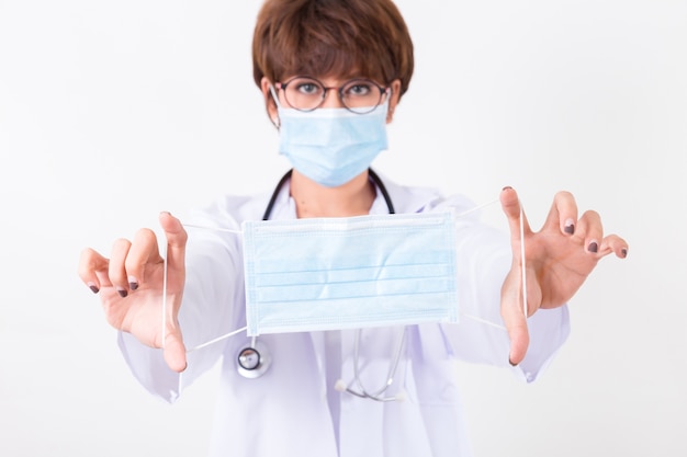
[[[364,76],[381,83],[413,76],[413,41],[391,0],[266,0],[252,38],[252,76]]]

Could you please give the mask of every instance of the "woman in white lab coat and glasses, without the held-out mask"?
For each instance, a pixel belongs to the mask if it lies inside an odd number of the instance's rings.
[[[188,231],[161,214],[167,264],[148,229],[117,240],[110,259],[83,251],[80,277],[100,294],[149,391],[173,401],[223,361],[213,456],[468,456],[452,361],[534,380],[567,336],[566,301],[602,256],[627,255],[624,240],[605,237],[596,213],[578,215],[570,193],[555,195],[533,232],[515,190],[505,188],[510,238],[472,218],[457,225],[460,324],[222,338],[247,324],[241,222],[472,207],[369,169],[412,73],[413,44],[390,0],[268,0],[255,30],[254,78],[293,164],[272,198],[226,196],[184,220]]]

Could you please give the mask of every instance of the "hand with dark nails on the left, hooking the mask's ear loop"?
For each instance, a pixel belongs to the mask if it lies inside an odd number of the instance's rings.
[[[185,279],[188,236],[179,219],[169,213],[161,213],[159,220],[167,237],[165,319],[165,260],[159,253],[153,230],[138,230],[133,241],[116,240],[110,259],[90,248],[83,250],[79,261],[79,276],[93,293],[100,294],[105,318],[112,327],[132,333],[150,347],[164,349],[167,365],[180,373],[187,367],[178,315]]]

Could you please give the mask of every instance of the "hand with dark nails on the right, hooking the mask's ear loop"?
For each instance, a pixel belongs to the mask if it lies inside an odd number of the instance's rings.
[[[527,316],[539,308],[566,304],[601,258],[615,253],[624,259],[628,243],[617,235],[604,236],[598,213],[578,217],[577,204],[568,192],[555,194],[547,221],[533,232],[511,187],[500,193],[500,204],[510,227],[513,265],[502,287],[502,317],[510,338],[510,363],[519,364],[527,352],[529,333],[522,305],[521,227],[525,237]]]

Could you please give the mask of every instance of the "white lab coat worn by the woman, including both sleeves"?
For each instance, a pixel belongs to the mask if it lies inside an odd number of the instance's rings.
[[[474,206],[464,197],[444,198],[431,190],[383,182],[396,213],[447,206],[462,212]],[[277,199],[272,219],[295,217],[288,187]],[[193,222],[238,230],[243,220],[262,217],[268,197],[225,197]],[[370,213],[386,212],[378,192]],[[503,324],[499,289],[510,266],[508,236],[472,217],[460,219],[457,235],[461,312]],[[241,262],[238,235],[189,229],[180,311],[188,349],[246,325]],[[532,381],[568,334],[567,307],[540,310],[528,324],[530,347],[516,368],[508,364],[507,333],[498,328],[470,318],[459,324],[408,327],[394,381],[384,393],[406,399],[391,402],[334,388],[339,379],[347,384],[353,379],[354,331],[260,336],[271,352],[272,365],[258,379],[246,379],[237,372],[237,354],[249,344],[245,332],[191,352],[181,375],[167,368],[160,350],[143,346],[131,334],[120,334],[120,346],[143,386],[170,402],[222,359],[212,456],[466,457],[471,448],[459,409],[453,361],[504,366]],[[362,332],[360,378],[368,390],[386,381],[399,331]]]

